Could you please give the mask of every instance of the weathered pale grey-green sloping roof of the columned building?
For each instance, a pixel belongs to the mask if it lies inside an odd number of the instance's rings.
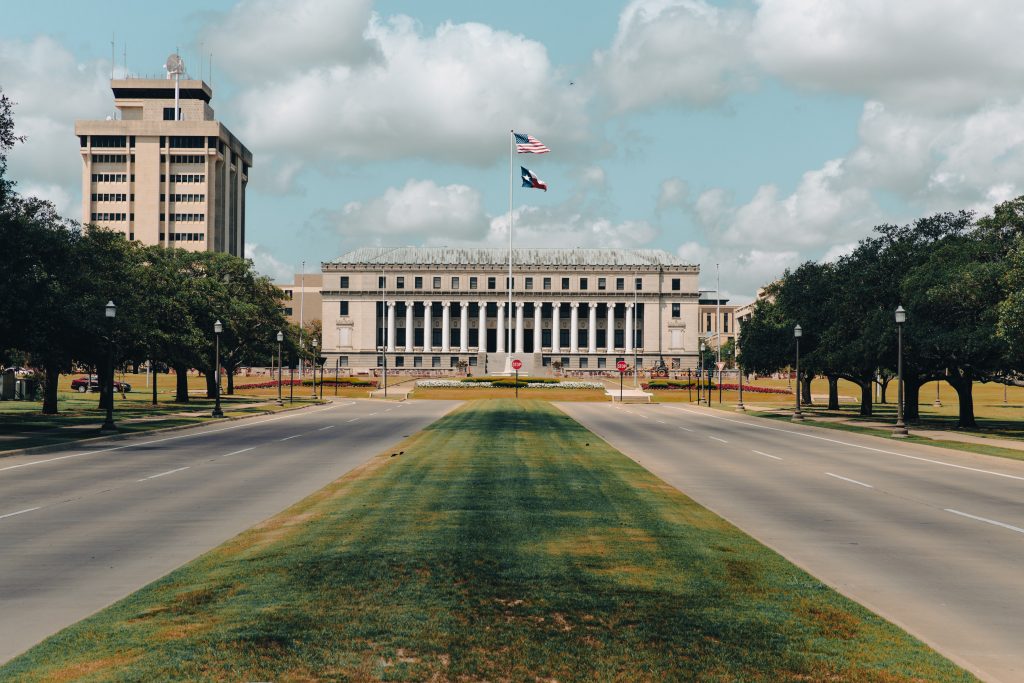
[[[474,247],[364,247],[333,261],[334,265],[475,265],[506,266],[507,249]],[[662,249],[513,249],[515,266],[687,266]]]

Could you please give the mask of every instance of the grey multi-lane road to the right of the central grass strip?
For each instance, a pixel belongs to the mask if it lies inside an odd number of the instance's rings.
[[[559,403],[985,680],[1024,680],[1024,462],[693,408]]]

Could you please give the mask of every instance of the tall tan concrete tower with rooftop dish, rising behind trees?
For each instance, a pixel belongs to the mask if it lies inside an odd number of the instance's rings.
[[[172,80],[113,80],[117,116],[75,122],[82,221],[147,245],[242,256],[252,154],[214,119],[209,85],[177,85],[175,100]]]

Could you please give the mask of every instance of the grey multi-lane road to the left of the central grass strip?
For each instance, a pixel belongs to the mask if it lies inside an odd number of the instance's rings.
[[[339,400],[0,459],[0,661],[302,500],[457,404]]]

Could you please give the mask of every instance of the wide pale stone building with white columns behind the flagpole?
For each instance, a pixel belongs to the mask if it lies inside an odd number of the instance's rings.
[[[323,264],[323,352],[381,366],[524,372],[695,366],[699,267],[668,252],[516,249],[509,309],[504,249],[367,248]],[[509,338],[511,337],[511,348]]]

